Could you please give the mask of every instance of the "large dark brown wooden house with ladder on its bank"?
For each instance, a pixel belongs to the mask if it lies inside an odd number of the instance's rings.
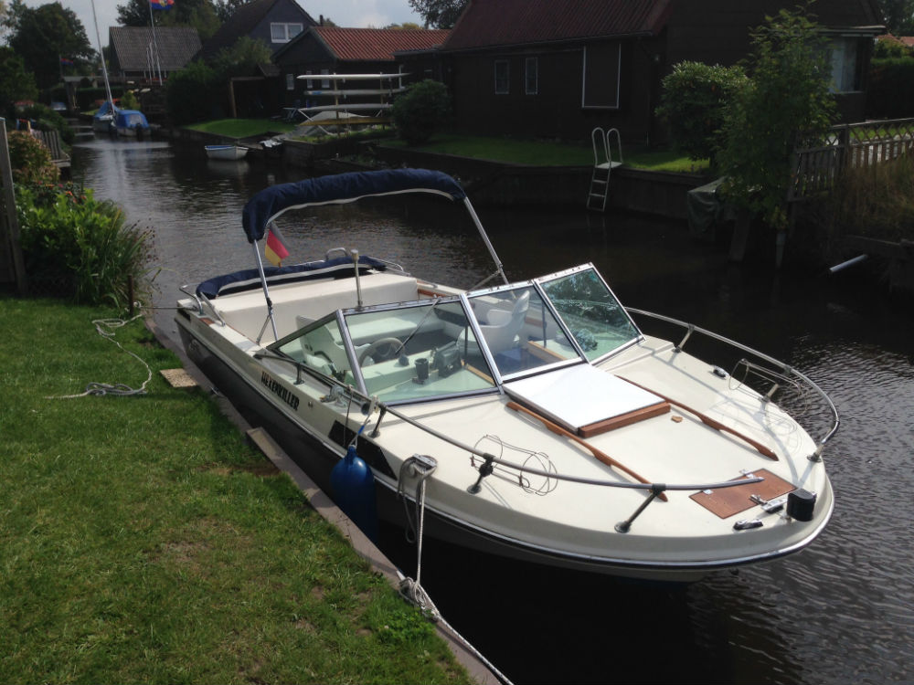
[[[439,50],[463,132],[589,139],[596,126],[626,140],[664,137],[654,117],[661,79],[683,60],[732,65],[749,31],[784,0],[470,0]],[[844,121],[859,121],[876,0],[827,0],[813,18],[831,43]]]

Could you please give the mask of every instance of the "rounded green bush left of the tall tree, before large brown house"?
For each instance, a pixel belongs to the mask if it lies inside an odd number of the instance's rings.
[[[722,145],[725,107],[747,83],[741,67],[711,67],[688,61],[676,64],[664,77],[664,94],[657,108],[657,115],[669,125],[675,150],[692,160],[709,159],[713,166]]]

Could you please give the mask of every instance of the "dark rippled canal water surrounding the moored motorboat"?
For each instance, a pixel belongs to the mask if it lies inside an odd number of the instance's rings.
[[[209,161],[196,144],[97,138],[74,147],[73,175],[154,232],[154,303],[167,307],[181,283],[250,268],[241,207],[303,172]],[[841,415],[825,451],[837,503],[802,553],[681,587],[523,567],[427,541],[422,582],[442,615],[518,685],[914,680],[910,303],[853,271],[729,264],[679,222],[567,207],[477,209],[509,278],[592,261],[625,304],[692,321],[811,376]],[[292,258],[359,248],[462,286],[492,270],[472,227],[440,204],[315,208],[282,227]],[[174,334],[171,317],[156,311]],[[399,533],[388,553],[415,574]]]

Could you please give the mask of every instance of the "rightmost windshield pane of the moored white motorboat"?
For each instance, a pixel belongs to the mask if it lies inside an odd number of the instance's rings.
[[[593,267],[537,281],[588,361],[613,352],[640,332]]]

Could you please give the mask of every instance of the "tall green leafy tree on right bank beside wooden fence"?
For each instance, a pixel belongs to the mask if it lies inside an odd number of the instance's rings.
[[[781,230],[793,150],[824,140],[836,110],[827,44],[800,7],[769,17],[751,32],[751,45],[749,83],[734,94],[724,120],[722,189]]]

